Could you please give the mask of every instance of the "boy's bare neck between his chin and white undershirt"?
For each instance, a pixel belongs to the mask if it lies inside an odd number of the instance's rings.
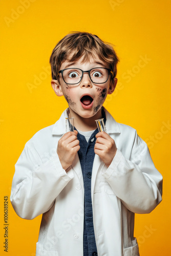
[[[97,128],[97,124],[95,120],[100,119],[102,115],[101,115],[101,109],[100,109],[94,116],[89,118],[81,117],[77,115],[75,112],[72,112],[71,114],[69,114],[69,117],[74,117],[74,126],[76,127],[77,130],[82,132],[88,132],[88,131],[93,131]]]

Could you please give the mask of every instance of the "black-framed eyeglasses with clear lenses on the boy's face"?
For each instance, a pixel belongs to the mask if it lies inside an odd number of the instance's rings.
[[[93,68],[87,71],[77,68],[62,69],[58,72],[57,77],[59,73],[62,74],[63,81],[67,84],[79,83],[82,80],[83,73],[89,73],[91,81],[97,84],[108,81],[110,74],[112,75],[112,78],[114,77],[112,70],[107,68]]]

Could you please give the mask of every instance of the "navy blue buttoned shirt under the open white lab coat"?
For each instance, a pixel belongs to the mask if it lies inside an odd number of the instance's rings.
[[[102,110],[102,117],[104,118],[105,124],[105,113]],[[94,146],[96,142],[96,134],[98,129],[96,129],[91,135],[89,141],[79,134],[77,138],[79,140],[80,150],[78,151],[78,156],[82,169],[82,176],[84,182],[84,231],[83,231],[83,255],[84,256],[96,256],[97,247],[94,234],[93,226],[93,209],[92,209],[92,198],[91,198],[91,178],[92,178],[92,168],[94,162]]]

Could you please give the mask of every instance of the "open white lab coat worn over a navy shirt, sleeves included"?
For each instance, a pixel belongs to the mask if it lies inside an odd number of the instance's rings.
[[[136,131],[105,110],[106,131],[117,153],[107,168],[95,155],[92,206],[98,256],[137,256],[134,213],[151,212],[162,200],[162,176]],[[83,255],[84,189],[78,155],[68,173],[56,153],[65,117],[37,132],[15,165],[11,203],[18,216],[42,214],[36,256]]]

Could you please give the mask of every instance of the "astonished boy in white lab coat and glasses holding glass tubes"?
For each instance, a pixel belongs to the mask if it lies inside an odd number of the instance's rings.
[[[134,215],[162,200],[146,143],[102,106],[115,90],[117,62],[114,49],[90,33],[68,34],[52,52],[52,88],[69,108],[26,143],[10,198],[20,217],[42,214],[37,256],[139,255]],[[65,133],[67,117],[74,132]],[[99,118],[106,133],[96,129]]]

